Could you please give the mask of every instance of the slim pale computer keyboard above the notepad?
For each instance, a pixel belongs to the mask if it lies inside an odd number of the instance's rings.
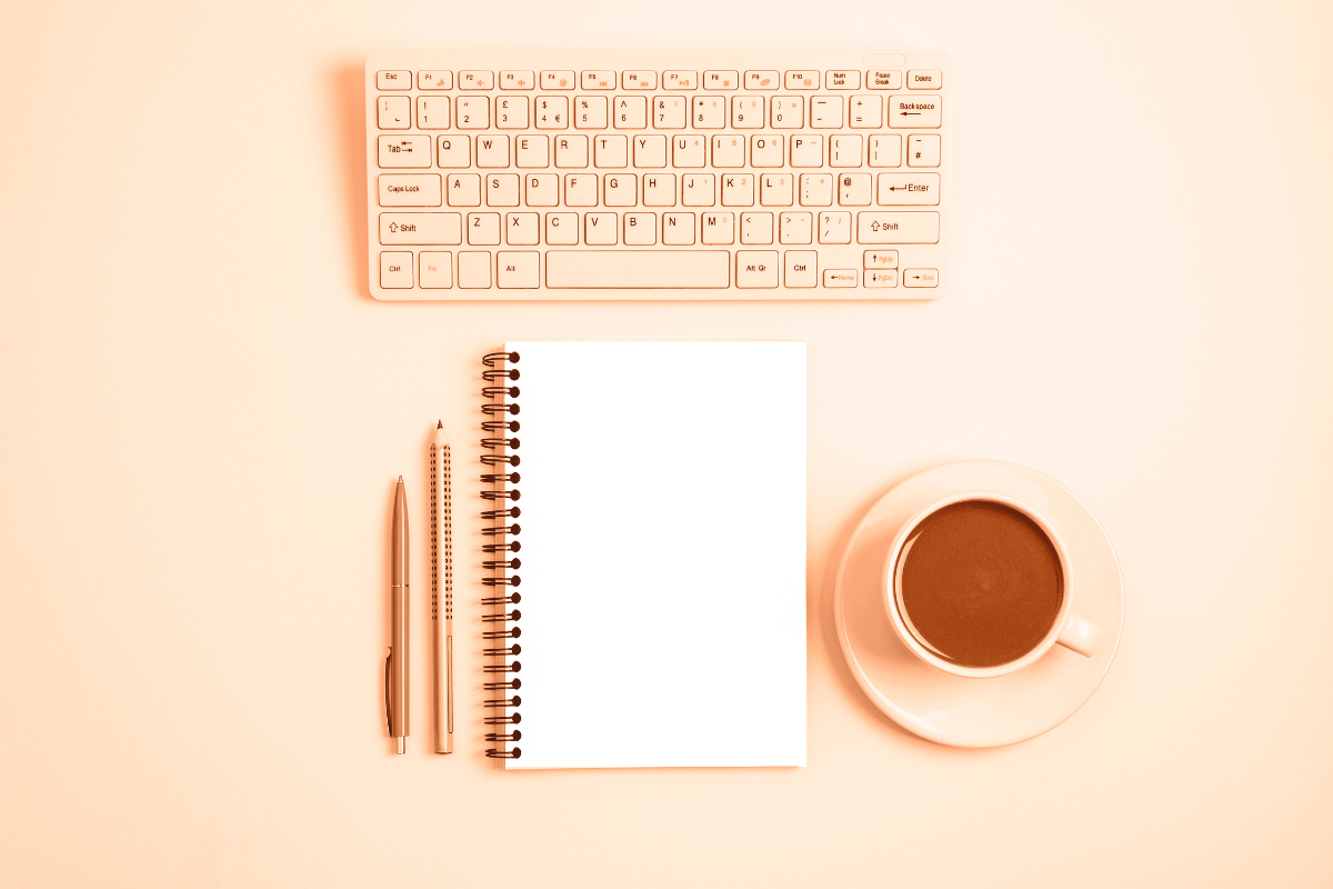
[[[381,300],[902,300],[945,288],[944,52],[375,52]]]

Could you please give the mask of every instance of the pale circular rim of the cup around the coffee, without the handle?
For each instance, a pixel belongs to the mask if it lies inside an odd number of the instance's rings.
[[[1017,509],[1024,516],[1030,518],[1041,530],[1046,534],[1046,538],[1052,542],[1056,549],[1056,554],[1060,557],[1061,569],[1061,601],[1060,610],[1056,612],[1056,620],[1052,622],[1050,629],[1046,634],[1037,642],[1036,646],[1029,649],[1022,657],[1008,661],[1005,664],[998,664],[996,666],[962,666],[960,664],[953,664],[944,660],[929,648],[921,644],[921,640],[910,630],[906,624],[906,617],[901,610],[900,593],[897,589],[897,564],[898,557],[902,552],[904,545],[912,536],[912,532],[925,521],[926,517],[934,514],[936,512],[944,509],[945,506],[952,506],[957,502],[965,502],[969,500],[984,500],[988,502],[1000,504],[1002,506],[1009,506]],[[990,678],[994,676],[1006,676],[1008,673],[1014,673],[1025,666],[1032,665],[1042,654],[1050,650],[1050,648],[1060,638],[1060,632],[1064,629],[1065,622],[1069,620],[1069,614],[1073,612],[1073,565],[1069,560],[1069,550],[1065,548],[1065,541],[1052,526],[1050,521],[1046,520],[1041,512],[1017,497],[1010,497],[1009,494],[1002,494],[993,490],[961,490],[941,497],[926,506],[918,509],[910,518],[908,518],[898,533],[893,537],[893,544],[889,546],[888,557],[884,562],[884,570],[881,572],[880,585],[881,594],[884,598],[884,608],[888,612],[889,622],[893,624],[893,630],[902,640],[902,644],[908,646],[913,654],[929,664],[936,666],[945,673],[953,673],[954,676],[962,676],[966,678]]]

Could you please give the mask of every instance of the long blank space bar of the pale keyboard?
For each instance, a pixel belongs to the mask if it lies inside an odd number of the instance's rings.
[[[730,283],[729,251],[547,251],[552,289],[697,289]]]

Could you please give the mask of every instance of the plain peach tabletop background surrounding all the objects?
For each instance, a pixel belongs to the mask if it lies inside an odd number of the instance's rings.
[[[0,884],[1329,885],[1330,16],[4,4]],[[361,61],[451,43],[949,49],[953,296],[373,303]],[[576,337],[809,341],[808,768],[489,768],[467,496],[460,752],[427,753],[417,558],[389,753],[392,480],[423,553],[479,353]],[[962,457],[1069,485],[1128,578],[1097,694],[984,752],[881,717],[830,626],[864,510]]]

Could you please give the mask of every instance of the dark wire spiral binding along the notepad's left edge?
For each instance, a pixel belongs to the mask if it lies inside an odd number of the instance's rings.
[[[516,472],[519,466],[516,452],[520,443],[517,437],[509,437],[519,432],[519,421],[513,419],[519,413],[519,405],[513,401],[519,397],[519,387],[507,385],[519,379],[519,369],[513,367],[519,363],[519,353],[492,352],[481,359],[481,363],[485,365],[481,372],[481,379],[485,380],[481,388],[481,396],[485,399],[481,405],[481,413],[485,415],[481,423],[484,433],[481,465],[485,468],[481,484],[488,485],[481,489],[481,500],[488,506],[481,510],[485,522],[481,533],[487,537],[487,542],[481,545],[481,552],[487,554],[481,561],[481,568],[485,569],[481,582],[487,586],[487,592],[492,593],[481,600],[481,605],[488,609],[481,616],[484,625],[481,638],[488,658],[483,670],[491,680],[485,682],[485,690],[505,693],[517,692],[523,686],[517,676],[523,670],[523,664],[511,660],[523,652],[521,645],[499,641],[516,640],[523,634],[519,626],[523,613],[517,608],[505,610],[523,601],[517,590],[523,578],[512,573],[521,566],[513,553],[520,549],[519,534],[523,529],[517,521],[511,521],[519,518],[521,513],[517,502],[523,496],[513,486],[520,481]],[[523,732],[513,728],[523,721],[523,714],[517,709],[521,704],[523,698],[517,694],[485,701],[485,706],[491,708],[487,710],[485,724],[497,726],[485,736],[487,744],[497,745],[487,749],[488,757],[517,760],[523,756],[523,749],[513,746],[523,738]]]

